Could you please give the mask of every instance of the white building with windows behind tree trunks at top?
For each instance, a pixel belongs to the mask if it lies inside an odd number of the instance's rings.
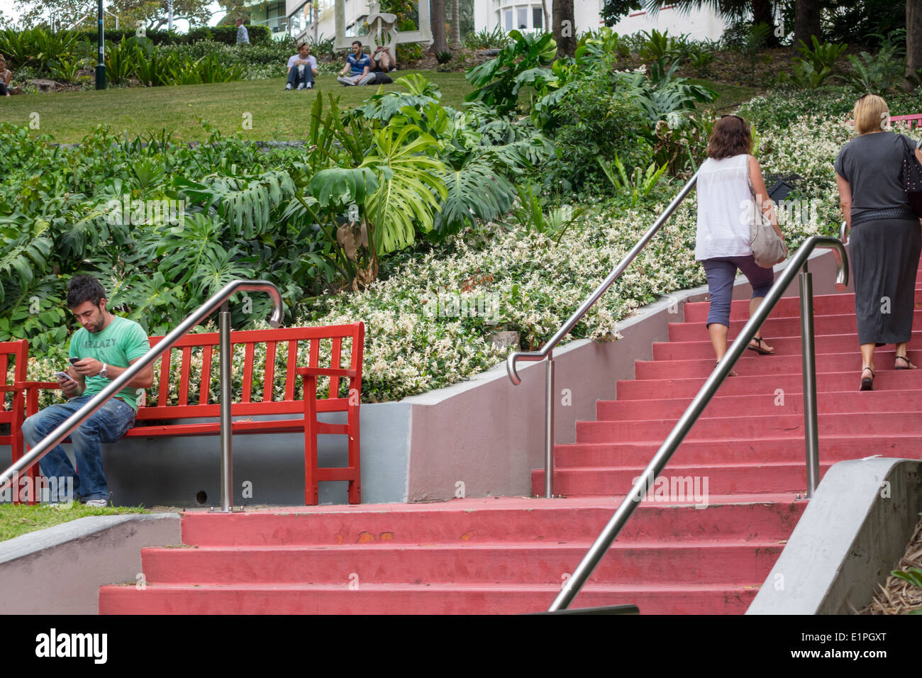
[[[599,16],[605,0],[574,0],[573,19],[575,34],[604,26]],[[545,30],[550,24],[553,0],[474,0],[475,30],[494,30],[499,26],[504,31],[513,29]],[[688,33],[695,40],[717,40],[726,28],[724,19],[712,7],[692,9],[683,13],[674,7],[664,7],[656,15],[643,10],[632,12],[622,18],[612,30],[628,35],[639,30],[668,30],[670,35]]]

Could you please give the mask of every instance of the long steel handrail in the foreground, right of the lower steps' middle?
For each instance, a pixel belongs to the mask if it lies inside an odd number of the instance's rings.
[[[666,441],[656,452],[653,459],[644,469],[643,474],[638,478],[631,488],[631,492],[624,497],[621,506],[615,511],[614,516],[609,520],[608,525],[599,534],[597,540],[586,552],[582,562],[573,571],[573,575],[567,579],[561,592],[550,605],[549,611],[554,612],[566,609],[585,585],[586,580],[592,574],[592,571],[602,559],[602,556],[609,550],[611,542],[615,541],[618,534],[623,529],[628,518],[632,516],[634,509],[643,500],[648,488],[653,486],[656,477],[662,472],[672,458],[676,449],[680,446],[682,440],[691,430],[691,426],[698,421],[698,417],[704,408],[714,397],[717,388],[723,384],[724,379],[730,374],[734,364],[739,360],[743,351],[749,345],[749,342],[755,337],[759,328],[768,318],[768,315],[774,309],[781,295],[798,275],[801,268],[806,268],[807,259],[810,253],[817,247],[829,247],[833,249],[836,256],[835,262],[835,288],[839,291],[845,291],[848,286],[848,258],[845,254],[845,246],[840,240],[828,236],[814,235],[800,245],[798,251],[791,257],[785,271],[775,280],[772,289],[765,295],[765,299],[756,309],[750,321],[739,332],[739,336],[734,339],[730,345],[724,359],[715,367],[714,372],[704,382],[698,395],[694,397],[688,409],[682,414],[679,422],[676,423],[671,433],[668,434]],[[816,375],[813,363],[813,327],[812,327],[812,287],[810,282],[810,273],[804,271],[799,274],[800,292],[801,292],[801,309],[807,308],[810,313],[808,317],[801,316],[801,332],[804,336],[804,420],[805,438],[807,441],[807,475],[808,475],[808,495],[812,496],[813,490],[819,482],[819,447],[817,445],[817,428],[816,428]],[[808,353],[809,358],[808,358]],[[810,373],[810,374],[809,374]]]

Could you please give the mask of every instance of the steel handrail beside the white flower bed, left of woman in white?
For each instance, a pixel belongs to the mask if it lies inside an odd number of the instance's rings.
[[[592,292],[588,297],[586,297],[585,302],[583,302],[579,308],[577,308],[573,315],[567,318],[566,322],[563,323],[562,327],[557,330],[553,337],[548,339],[548,341],[541,347],[539,351],[515,351],[511,353],[508,358],[506,358],[506,373],[509,375],[510,381],[515,386],[518,386],[522,383],[522,379],[518,375],[518,371],[515,369],[516,361],[525,361],[526,363],[534,363],[545,358],[548,359],[548,363],[545,367],[545,383],[544,383],[544,495],[546,497],[552,497],[554,495],[554,355],[553,350],[561,342],[567,334],[570,333],[570,330],[575,327],[576,323],[580,321],[586,311],[588,311],[592,306],[601,298],[601,296],[608,291],[612,283],[615,280],[618,280],[621,277],[621,273],[624,272],[625,268],[630,266],[631,262],[640,254],[640,251],[644,249],[647,243],[649,243],[653,236],[656,235],[656,232],[659,231],[660,227],[669,217],[672,216],[672,213],[676,211],[676,208],[679,207],[682,200],[689,195],[691,189],[694,188],[695,183],[698,181],[698,172],[695,172],[688,183],[682,186],[682,189],[679,192],[679,195],[675,196],[663,211],[662,214],[654,221],[653,225],[644,233],[644,236],[637,241],[632,248],[632,250],[621,259],[621,263],[616,266],[608,277],[598,285],[595,291]]]

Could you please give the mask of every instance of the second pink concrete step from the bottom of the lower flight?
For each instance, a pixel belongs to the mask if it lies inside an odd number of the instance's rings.
[[[401,545],[147,548],[143,572],[156,584],[560,584],[592,541]],[[761,584],[781,554],[778,541],[619,540],[591,583],[669,586]]]

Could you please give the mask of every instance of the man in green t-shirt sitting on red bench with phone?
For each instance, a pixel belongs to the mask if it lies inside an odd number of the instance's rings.
[[[33,414],[22,424],[26,444],[34,447],[89,399],[109,386],[131,363],[150,350],[148,335],[133,320],[112,315],[106,309],[106,291],[91,276],[75,276],[67,284],[67,308],[82,325],[70,339],[70,362],[57,381],[65,403],[57,403]],[[77,458],[77,471],[64,448],[55,446],[39,462],[47,478],[73,478],[74,492],[87,506],[107,506],[109,487],[102,470],[100,443],[114,443],[135,423],[137,397],[154,383],[153,364],[136,375],[86,422],[70,434]],[[77,474],[78,473],[78,474]],[[53,485],[52,485],[53,487]],[[60,485],[59,485],[60,487]],[[52,496],[52,504],[70,497]]]

